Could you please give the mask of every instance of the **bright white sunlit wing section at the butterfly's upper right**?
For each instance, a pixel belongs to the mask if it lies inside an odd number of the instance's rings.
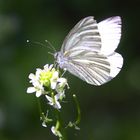
[[[101,35],[101,53],[109,55],[118,47],[121,38],[121,18],[111,17],[98,23]]]

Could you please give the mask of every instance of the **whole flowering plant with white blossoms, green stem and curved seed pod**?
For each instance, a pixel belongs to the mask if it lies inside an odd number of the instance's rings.
[[[63,74],[62,74],[63,75]],[[36,97],[45,97],[47,103],[53,108],[48,108],[47,111],[42,110],[40,99],[38,100],[40,120],[42,126],[47,127],[51,124],[51,131],[59,140],[64,139],[63,127],[74,127],[77,129],[77,124],[80,122],[79,105],[76,96],[73,96],[77,106],[78,117],[76,121],[70,121],[68,125],[64,125],[60,118],[61,102],[65,98],[65,89],[69,88],[67,79],[60,76],[60,71],[54,65],[46,64],[43,69],[37,68],[35,74],[29,74],[30,83],[32,86],[27,88],[27,93],[35,93]],[[49,111],[51,114],[49,114]],[[45,112],[45,113],[44,113]],[[78,129],[77,129],[78,130]]]

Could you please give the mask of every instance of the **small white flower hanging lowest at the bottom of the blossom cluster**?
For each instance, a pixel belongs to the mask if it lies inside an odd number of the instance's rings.
[[[45,95],[45,97],[49,101],[49,105],[53,106],[56,109],[60,109],[61,108],[61,105],[60,105],[60,103],[58,101],[59,100],[58,94],[56,94],[53,98],[48,96],[48,95]]]

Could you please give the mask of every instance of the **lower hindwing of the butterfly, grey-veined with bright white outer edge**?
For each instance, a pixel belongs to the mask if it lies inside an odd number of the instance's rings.
[[[83,56],[83,55],[82,55]],[[73,57],[65,62],[65,68],[73,75],[92,85],[102,85],[114,78],[121,70],[123,58],[118,53],[104,56],[85,52],[83,57]]]

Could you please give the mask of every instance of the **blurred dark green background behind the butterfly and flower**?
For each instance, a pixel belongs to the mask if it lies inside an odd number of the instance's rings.
[[[80,131],[68,140],[140,140],[140,8],[137,0],[0,0],[0,140],[56,140],[42,128],[34,95],[26,94],[28,75],[53,63],[47,47],[57,50],[82,18],[122,17],[117,52],[124,66],[111,82],[95,87],[67,73],[70,90],[81,105]],[[46,45],[46,44],[45,44]],[[68,98],[69,100],[70,98]],[[63,104],[64,118],[74,118],[73,100]],[[68,108],[66,108],[68,107]]]

